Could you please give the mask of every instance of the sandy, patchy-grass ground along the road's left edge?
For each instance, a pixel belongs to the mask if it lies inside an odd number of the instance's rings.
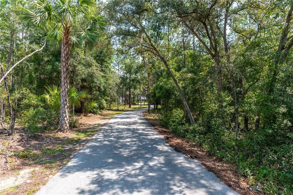
[[[139,109],[133,106],[132,109]],[[55,175],[116,114],[103,111],[79,116],[78,128],[67,133],[42,132],[31,137],[23,128],[0,135],[0,194],[34,194]]]

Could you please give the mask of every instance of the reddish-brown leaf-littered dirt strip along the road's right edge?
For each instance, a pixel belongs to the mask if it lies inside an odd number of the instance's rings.
[[[161,133],[171,147],[175,151],[181,152],[187,155],[189,158],[194,158],[205,168],[213,172],[224,184],[234,189],[239,194],[259,194],[258,192],[249,190],[248,179],[243,175],[239,174],[233,165],[225,164],[217,159],[215,156],[210,155],[207,151],[202,148],[195,146],[191,141],[179,137],[173,133],[170,129],[163,127],[159,123],[158,116],[156,114],[149,115],[146,112],[142,114],[144,118],[154,126],[154,128]]]

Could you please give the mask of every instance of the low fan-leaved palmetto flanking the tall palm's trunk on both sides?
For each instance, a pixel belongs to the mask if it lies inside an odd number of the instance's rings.
[[[47,106],[52,110],[60,110],[61,88],[57,85],[48,85],[45,88],[47,91],[41,97],[45,99]],[[72,107],[73,113],[74,107],[81,107],[81,101],[90,96],[87,90],[78,91],[74,86],[69,88],[68,93],[69,106]]]

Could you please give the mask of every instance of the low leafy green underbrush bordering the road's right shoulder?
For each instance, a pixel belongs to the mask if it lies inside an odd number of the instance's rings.
[[[225,163],[236,165],[238,171],[248,177],[254,190],[267,194],[293,194],[291,131],[272,128],[240,131],[235,140],[233,129],[217,119],[192,126],[185,124],[180,109],[161,112],[160,122]]]

